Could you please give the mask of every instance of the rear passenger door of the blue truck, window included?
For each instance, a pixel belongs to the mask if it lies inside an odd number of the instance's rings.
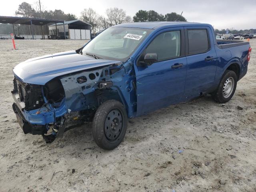
[[[184,99],[207,92],[216,74],[217,54],[209,27],[185,27],[187,75]]]

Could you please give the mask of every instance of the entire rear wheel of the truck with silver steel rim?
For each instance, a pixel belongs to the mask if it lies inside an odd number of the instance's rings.
[[[236,91],[237,76],[234,71],[226,70],[217,90],[212,94],[214,100],[220,103],[228,102]]]

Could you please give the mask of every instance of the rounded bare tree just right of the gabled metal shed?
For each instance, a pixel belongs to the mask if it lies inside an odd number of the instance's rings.
[[[91,30],[93,33],[96,32],[96,28],[98,26],[99,15],[92,8],[84,9],[81,12],[80,19],[91,25]]]

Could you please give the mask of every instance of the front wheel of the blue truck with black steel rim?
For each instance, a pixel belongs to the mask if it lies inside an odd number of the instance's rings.
[[[117,117],[115,117],[115,115],[111,116],[110,112],[111,114],[112,112],[114,114],[116,112],[118,116]],[[114,118],[114,119],[111,119],[110,116],[111,118]],[[112,128],[112,123],[114,123],[114,120],[116,118],[120,118],[120,119],[117,119],[118,124],[116,124],[118,125],[118,130],[116,129],[116,127],[114,127],[115,125]],[[110,122],[111,122],[111,127],[108,128],[106,124],[109,124]],[[92,135],[93,135],[94,141],[100,148],[105,150],[112,150],[116,148],[124,139],[124,135],[126,133],[126,128],[127,128],[127,122],[128,122],[128,118],[127,118],[126,110],[122,103],[120,103],[117,100],[108,100],[102,103],[97,109],[96,113],[94,114],[94,118],[92,121],[92,129],[93,129]],[[110,137],[111,133],[113,133],[114,136],[112,135]]]

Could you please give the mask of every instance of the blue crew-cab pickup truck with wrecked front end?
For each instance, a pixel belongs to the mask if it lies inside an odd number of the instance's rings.
[[[249,42],[216,40],[209,24],[120,24],[78,50],[14,67],[12,107],[25,134],[50,143],[92,122],[96,144],[111,150],[122,142],[128,118],[206,93],[228,102],[250,52]]]

